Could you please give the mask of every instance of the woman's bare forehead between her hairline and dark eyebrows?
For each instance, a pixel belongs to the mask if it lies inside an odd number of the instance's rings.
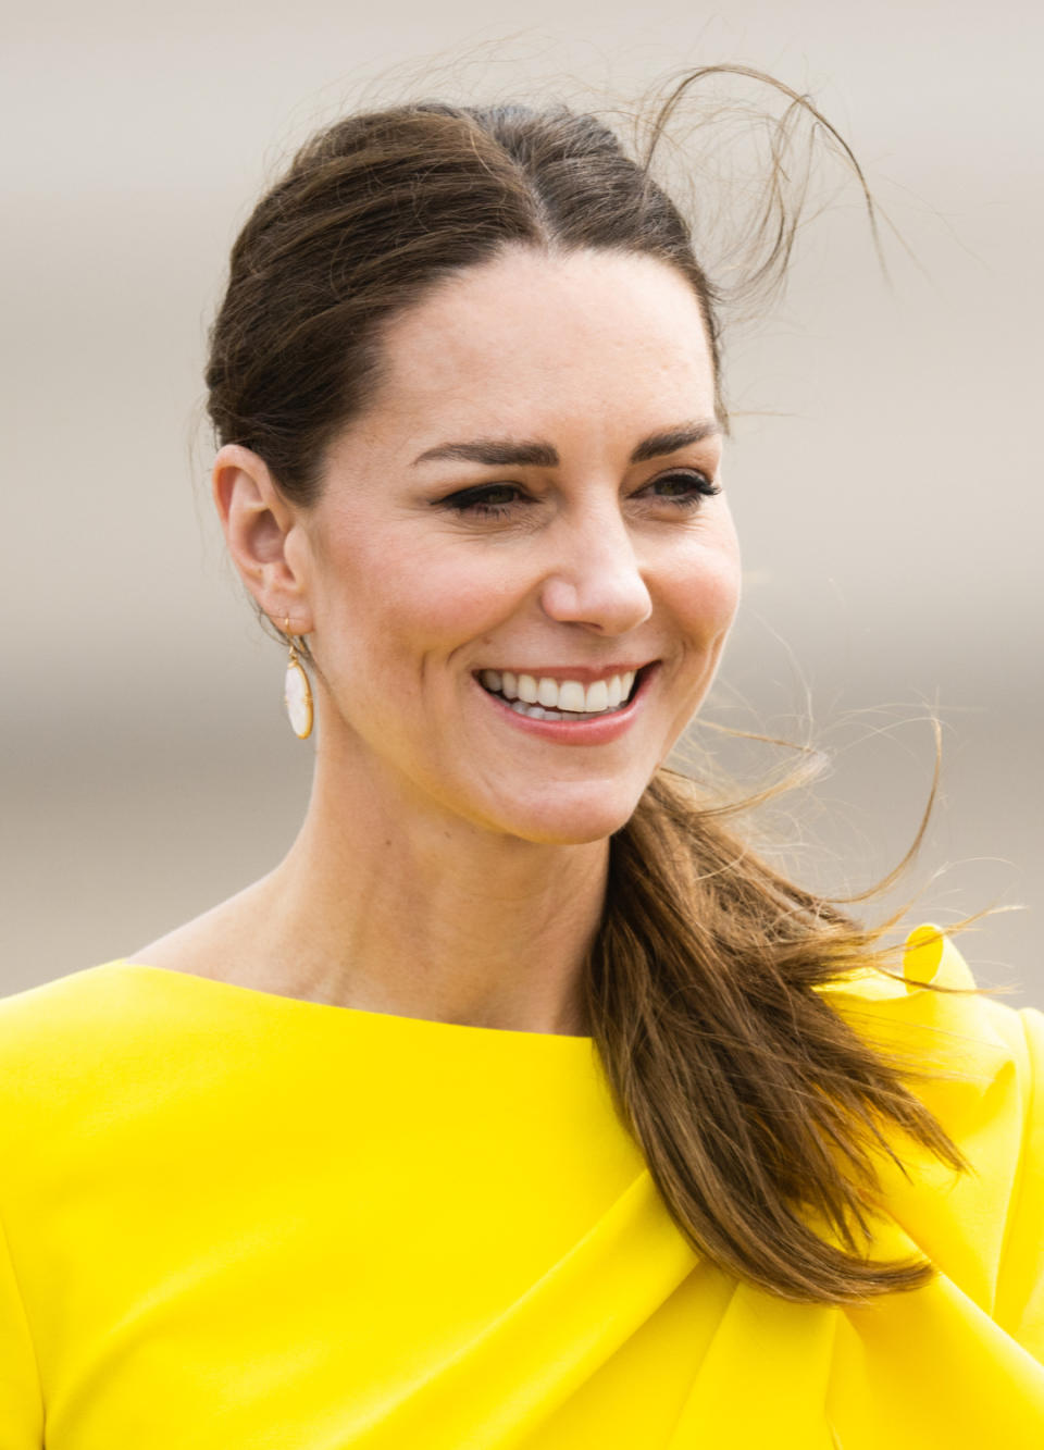
[[[512,248],[441,283],[383,334],[371,426],[552,429],[713,413],[699,303],[651,257]],[[658,419],[657,419],[658,420]]]

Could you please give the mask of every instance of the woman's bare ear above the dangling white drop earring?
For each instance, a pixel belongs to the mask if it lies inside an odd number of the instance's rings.
[[[249,448],[225,444],[213,464],[213,497],[225,542],[244,584],[260,608],[290,634],[310,634],[306,594],[307,550],[300,548],[299,510]]]

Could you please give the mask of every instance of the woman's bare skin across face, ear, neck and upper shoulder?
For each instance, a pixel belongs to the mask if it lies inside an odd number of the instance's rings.
[[[629,461],[650,434],[713,420],[699,306],[648,257],[513,248],[441,284],[384,344],[386,378],[329,450],[318,503],[291,505],[245,448],[218,454],[231,555],[316,661],[315,782],[274,871],[133,960],[584,1032],[608,838],[699,708],[738,603],[724,493],[693,483],[721,483],[721,436]],[[560,461],[413,463],[506,436]],[[499,516],[445,505],[493,484]],[[519,729],[474,679],[651,660],[634,724],[592,745]]]

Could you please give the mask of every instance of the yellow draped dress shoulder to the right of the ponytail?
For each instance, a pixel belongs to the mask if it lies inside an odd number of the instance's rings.
[[[1044,1014],[980,995],[963,954],[934,927],[911,932],[903,976],[860,974],[828,996],[857,1031],[906,1064],[909,1088],[967,1170],[896,1144],[900,1161],[886,1161],[880,1173],[886,1215],[998,1322],[1012,1333],[1021,1325],[1025,1341],[1040,1338],[1041,1351]],[[1027,1328],[1027,1315],[1040,1325]]]

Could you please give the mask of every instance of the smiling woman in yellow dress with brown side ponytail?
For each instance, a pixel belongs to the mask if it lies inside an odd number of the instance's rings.
[[[0,1008],[3,1450],[1038,1444],[1044,1018],[932,928],[873,970],[663,766],[740,573],[645,165],[351,116],[207,383],[315,787],[262,880]]]

